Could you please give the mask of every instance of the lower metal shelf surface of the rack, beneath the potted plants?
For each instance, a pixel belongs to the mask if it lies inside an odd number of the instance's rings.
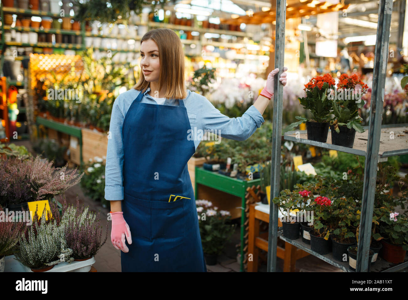
[[[285,242],[299,248],[302,249],[310,254],[312,254],[313,256],[316,256],[317,258],[320,258],[321,260],[324,260],[325,262],[328,262],[330,265],[333,265],[345,272],[354,272],[351,271],[350,269],[348,269],[348,262],[340,262],[337,261],[333,258],[333,254],[329,253],[326,255],[322,255],[322,254],[318,254],[315,251],[312,251],[312,249],[310,249],[310,245],[304,243],[302,241],[302,238],[298,238],[297,240],[290,240],[289,238],[286,238],[282,235],[279,235],[279,238],[281,240],[284,240]],[[405,260],[404,262],[402,262],[401,264],[393,264],[391,262],[387,262],[386,260],[382,259],[380,256],[377,257],[377,261],[375,262],[374,265],[370,266],[370,272],[395,272],[395,271],[399,271],[401,269],[405,269],[408,267],[408,254],[406,254],[405,256]]]

